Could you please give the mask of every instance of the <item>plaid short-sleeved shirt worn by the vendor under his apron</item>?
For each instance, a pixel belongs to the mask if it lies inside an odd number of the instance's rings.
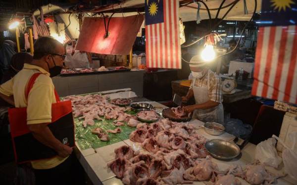
[[[222,103],[222,83],[218,75],[216,75],[211,70],[209,71],[209,87],[208,87],[208,96],[211,101]],[[207,87],[207,71],[203,74],[202,78],[192,81],[190,89],[193,88],[193,83],[196,87]]]

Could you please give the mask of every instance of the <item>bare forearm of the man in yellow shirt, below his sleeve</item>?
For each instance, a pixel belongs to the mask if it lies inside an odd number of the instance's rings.
[[[72,148],[63,145],[59,140],[57,140],[47,125],[48,123],[29,124],[28,128],[32,132],[35,139],[49,148],[54,149],[59,156],[67,157],[70,155]]]

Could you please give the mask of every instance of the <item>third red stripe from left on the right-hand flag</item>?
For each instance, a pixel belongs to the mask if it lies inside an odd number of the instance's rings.
[[[280,48],[285,48],[286,47],[286,43],[287,43],[287,29],[288,27],[283,27],[282,28],[282,36],[281,36],[281,44],[280,44]],[[281,49],[279,51],[279,58],[278,58],[278,66],[277,66],[277,70],[276,70],[276,78],[274,81],[274,87],[275,89],[273,90],[273,94],[272,94],[272,98],[277,100],[278,99],[278,94],[279,94],[279,86],[280,86],[280,81],[281,81],[281,75],[282,75],[282,69],[283,69],[283,63],[284,63],[284,56],[285,55],[285,50]]]

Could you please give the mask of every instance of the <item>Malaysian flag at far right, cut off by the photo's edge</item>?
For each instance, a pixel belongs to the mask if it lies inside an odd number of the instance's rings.
[[[262,0],[252,95],[297,104],[297,0]]]

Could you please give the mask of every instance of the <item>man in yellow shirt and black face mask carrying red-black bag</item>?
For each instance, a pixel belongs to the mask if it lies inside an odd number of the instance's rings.
[[[51,104],[56,103],[54,85],[50,76],[60,73],[65,51],[62,44],[52,37],[40,37],[34,44],[31,64],[12,79],[0,86],[0,97],[16,108],[27,108],[27,126],[34,138],[54,149],[58,156],[50,159],[31,161],[37,185],[66,185],[70,181],[72,148],[57,140],[47,126],[51,122]],[[25,89],[31,76],[40,74],[28,95]],[[68,176],[68,177],[67,177]]]

